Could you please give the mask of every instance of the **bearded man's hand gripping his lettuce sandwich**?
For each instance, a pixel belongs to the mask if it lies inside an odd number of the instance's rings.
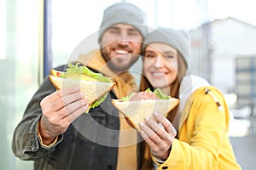
[[[78,87],[63,88],[46,96],[40,103],[43,116],[38,130],[44,144],[51,144],[89,107]]]

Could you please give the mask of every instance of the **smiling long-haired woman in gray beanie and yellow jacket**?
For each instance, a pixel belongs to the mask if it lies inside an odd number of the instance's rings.
[[[180,104],[167,118],[147,117],[141,135],[159,169],[241,169],[228,136],[224,96],[203,78],[189,75],[189,54],[184,31],[158,28],[145,38],[141,90],[160,88]]]

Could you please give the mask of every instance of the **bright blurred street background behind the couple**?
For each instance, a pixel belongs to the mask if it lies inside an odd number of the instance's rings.
[[[117,0],[0,1],[0,169],[32,169],[11,151],[15,126],[52,67],[97,48],[102,11]],[[219,88],[230,105],[230,140],[243,169],[256,166],[256,2],[254,0],[127,0],[148,26],[188,31],[190,71]],[[90,37],[92,37],[90,39]],[[138,64],[135,67],[139,66]]]

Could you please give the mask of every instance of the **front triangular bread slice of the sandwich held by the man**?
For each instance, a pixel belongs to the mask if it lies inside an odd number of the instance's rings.
[[[88,99],[89,105],[93,104],[97,99],[100,99],[104,94],[107,94],[114,86],[114,82],[96,82],[83,79],[62,78],[49,75],[50,82],[55,88],[67,88],[73,85],[80,87],[84,98]]]

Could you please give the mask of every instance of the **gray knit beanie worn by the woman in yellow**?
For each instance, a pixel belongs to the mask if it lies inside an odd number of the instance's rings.
[[[190,41],[189,35],[185,31],[175,30],[172,28],[159,27],[150,32],[144,39],[143,52],[150,43],[160,42],[176,48],[183,55],[186,64],[189,65]]]

